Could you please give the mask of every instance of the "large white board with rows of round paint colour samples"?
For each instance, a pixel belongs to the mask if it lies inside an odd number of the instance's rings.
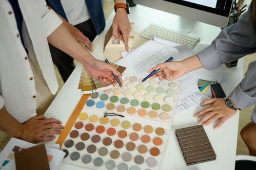
[[[176,110],[180,81],[141,82],[92,93],[61,150],[63,162],[95,170],[159,170]]]

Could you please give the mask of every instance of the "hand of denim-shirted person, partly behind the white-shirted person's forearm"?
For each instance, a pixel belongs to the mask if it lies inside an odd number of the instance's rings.
[[[82,32],[79,31],[79,29],[77,27],[74,27],[73,25],[71,25],[68,22],[64,22],[65,26],[67,27],[67,29],[69,30],[69,32],[74,36],[74,38],[81,42],[82,44],[85,45],[85,47],[89,50],[89,51],[93,51],[93,43],[90,41],[90,39],[85,36],[84,34],[82,34]]]

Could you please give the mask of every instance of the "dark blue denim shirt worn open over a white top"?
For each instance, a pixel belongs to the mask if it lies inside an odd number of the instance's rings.
[[[60,0],[46,1],[61,17],[68,21]],[[101,0],[85,0],[85,3],[97,34],[102,33],[106,23]]]

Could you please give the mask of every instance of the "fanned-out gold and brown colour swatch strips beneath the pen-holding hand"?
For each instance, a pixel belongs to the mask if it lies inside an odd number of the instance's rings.
[[[116,65],[111,63],[111,66],[116,68],[118,72],[120,72],[122,75],[125,74],[125,67]],[[81,89],[82,94],[91,94],[95,93],[97,91],[106,90],[109,88],[112,88],[113,85],[104,86],[100,83],[98,79],[93,78],[84,67],[82,67],[80,80],[79,80],[79,86],[78,89]]]

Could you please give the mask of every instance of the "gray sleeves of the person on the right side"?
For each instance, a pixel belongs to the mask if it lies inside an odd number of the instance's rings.
[[[251,13],[252,4],[236,24],[223,29],[209,47],[197,54],[205,69],[217,69],[256,52],[256,28]],[[245,78],[231,92],[230,98],[239,108],[256,103],[256,61],[250,63]]]

